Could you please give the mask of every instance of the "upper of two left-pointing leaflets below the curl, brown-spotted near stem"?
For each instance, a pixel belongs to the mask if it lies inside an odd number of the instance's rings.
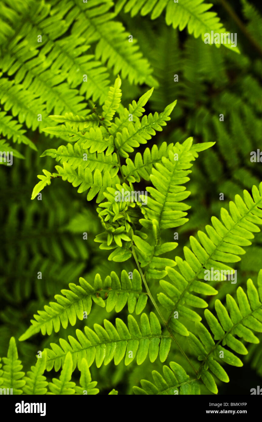
[[[69,284],[70,290],[61,290],[61,295],[56,295],[56,302],[50,302],[45,306],[45,311],[38,311],[39,315],[34,315],[32,325],[19,338],[24,341],[32,335],[41,333],[51,335],[57,333],[60,324],[67,328],[68,322],[75,325],[76,319],[83,320],[90,314],[92,303],[106,308],[107,312],[115,308],[120,312],[128,303],[128,312],[140,314],[147,303],[147,293],[142,292],[141,277],[137,270],[133,271],[133,278],[129,279],[128,273],[122,271],[121,280],[114,271],[102,281],[99,274],[96,274],[94,287],[85,279],[80,277],[79,285]]]

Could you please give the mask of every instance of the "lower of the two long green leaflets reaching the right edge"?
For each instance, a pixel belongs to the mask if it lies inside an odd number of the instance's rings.
[[[237,301],[231,295],[227,295],[227,307],[220,300],[216,300],[217,318],[208,309],[205,310],[206,321],[214,338],[201,322],[195,323],[198,337],[192,333],[188,337],[192,354],[201,361],[198,378],[201,378],[206,387],[215,394],[217,386],[211,373],[221,381],[229,381],[219,362],[243,366],[241,360],[223,346],[227,346],[233,352],[247,354],[243,341],[259,343],[253,331],[262,333],[262,270],[259,271],[257,282],[258,290],[251,279],[247,281],[247,295],[242,287],[238,287]]]

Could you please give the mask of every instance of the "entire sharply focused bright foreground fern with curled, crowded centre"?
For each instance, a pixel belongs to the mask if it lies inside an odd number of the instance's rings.
[[[251,245],[253,233],[260,230],[262,183],[253,186],[252,195],[248,191],[243,192],[243,198],[236,195],[228,210],[221,208],[220,219],[212,217],[206,232],[199,230],[197,237],[190,236],[184,257],[174,256],[178,243],[163,238],[169,230],[173,236],[173,230],[188,221],[190,207],[183,201],[190,192],[184,184],[190,180],[192,162],[214,143],[193,144],[192,138],[183,143],[163,142],[131,158],[136,147],[162,130],[176,102],[160,114],[147,116],[144,106],[152,89],[124,108],[120,106],[120,85],[118,76],[104,105],[99,108],[93,104],[90,117],[51,116],[59,124],[43,129],[57,137],[62,133],[68,144],[42,154],[60,165],[55,166],[56,172],[43,170],[44,176],[38,176],[40,182],[32,199],[59,176],[78,187],[79,193],[85,192],[88,201],[96,198],[103,231],[94,240],[100,249],[108,250],[108,260],[116,263],[116,271],[104,279],[99,274],[94,280],[80,277],[78,284],[70,283],[55,301],[34,315],[20,341],[40,331],[43,335],[62,329],[67,333],[78,320],[84,326],[75,336],[68,335],[68,341],[60,338],[59,344],[51,343],[39,351],[27,376],[21,372],[11,338],[0,383],[2,389],[13,388],[14,394],[97,394],[89,371],[94,362],[100,368],[123,361],[128,368],[134,362],[142,365],[147,357],[150,362],[159,362],[158,366],[171,360],[161,373],[152,372],[152,382],[142,379],[141,387],[134,385],[135,394],[216,394],[217,384],[229,381],[225,363],[243,365],[235,353],[247,354],[246,342],[259,342],[254,332],[262,333],[262,270],[257,286],[249,279],[245,289],[239,286],[235,295],[227,295],[225,304],[215,300],[212,311],[207,309],[206,300],[217,294],[217,284],[206,282],[206,271],[222,273],[217,281],[226,281],[228,273],[234,274],[229,264],[241,259],[243,248]],[[140,197],[132,198],[131,193],[137,192],[134,185],[139,184],[136,187],[140,186],[141,193],[143,180],[151,186]],[[117,201],[122,191],[127,196]],[[174,240],[178,240],[177,235],[175,232]],[[121,262],[127,266],[118,274]],[[149,303],[154,311],[147,312]],[[105,308],[109,318],[104,319],[103,326],[94,324],[91,328],[87,317],[95,306]],[[203,319],[202,308],[206,308]],[[125,309],[125,321],[112,319],[113,311],[122,313]],[[182,358],[180,363],[174,361],[174,351]],[[61,369],[61,374],[48,382],[43,373],[53,368]],[[76,368],[80,385],[71,380]]]

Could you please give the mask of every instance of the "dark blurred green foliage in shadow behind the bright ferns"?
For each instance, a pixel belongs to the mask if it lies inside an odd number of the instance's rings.
[[[228,208],[228,201],[235,194],[243,189],[250,190],[253,184],[262,180],[262,164],[250,162],[250,152],[262,149],[262,18],[259,16],[262,8],[260,1],[250,4],[257,8],[251,19],[246,16],[241,1],[214,2],[213,9],[225,26],[230,32],[237,32],[240,55],[224,47],[207,48],[201,39],[188,35],[187,29],[178,32],[167,27],[163,17],[151,21],[149,16],[139,15],[131,19],[123,12],[118,16],[127,31],[138,40],[144,57],[154,69],[153,76],[159,82],[146,112],[162,111],[177,99],[171,121],[152,143],[184,141],[189,136],[196,142],[217,142],[194,163],[187,184],[192,192],[187,200],[192,206],[190,220],[177,230],[179,248],[176,254],[182,252],[191,234],[203,230],[212,215],[219,215],[221,206]],[[252,41],[237,24],[236,16],[249,31]],[[173,80],[174,74],[179,76],[177,83]],[[113,75],[110,75],[110,81],[114,81]],[[123,80],[122,89],[123,104],[127,106],[148,86],[130,85]],[[224,114],[224,122],[219,122],[219,114]],[[39,158],[39,155],[47,148],[59,146],[60,141],[38,130],[28,130],[27,137],[38,151],[23,144],[16,146],[25,159],[14,158],[11,167],[2,165],[0,168],[0,356],[6,355],[11,335],[18,339],[37,309],[43,308],[69,282],[77,282],[79,276],[92,280],[97,272],[105,277],[111,269],[117,268],[120,273],[122,269],[132,271],[134,268],[134,263],[129,261],[119,264],[107,261],[107,253],[98,249],[93,241],[101,232],[96,203],[87,203],[86,195],[77,194],[70,184],[54,180],[52,186],[43,191],[41,201],[30,200],[37,174],[42,168],[52,171],[54,165],[51,158]],[[140,146],[139,151],[144,151],[144,146]],[[141,185],[141,189],[146,186]],[[219,200],[220,193],[224,193],[224,202]],[[87,240],[83,240],[83,232],[88,233]],[[171,230],[165,240],[173,240]],[[249,277],[255,280],[262,268],[261,258],[262,235],[258,234],[237,265],[238,285]],[[37,279],[39,271],[42,279]],[[221,282],[217,297],[225,300],[226,293],[233,292],[234,288],[234,284]],[[159,291],[156,283],[153,292]],[[210,306],[213,302],[212,299]],[[152,310],[151,304],[147,304],[146,309]],[[124,319],[126,315],[124,309],[121,316]],[[101,324],[105,317],[109,318],[106,311],[94,306],[86,323],[89,326],[94,322]],[[114,319],[112,312],[110,320]],[[82,326],[80,321],[75,327],[69,326],[67,335],[74,335],[75,329]],[[38,350],[59,337],[66,338],[64,332],[62,329],[59,335],[53,333],[50,337],[39,334],[19,343],[19,358],[24,362],[24,369],[27,371],[35,364]],[[252,346],[250,352],[243,368],[227,367],[230,384],[221,383],[219,394],[250,394],[252,387],[261,384],[262,346]],[[183,362],[176,349],[171,349],[169,358]],[[134,362],[128,368],[123,362],[118,367],[110,363],[99,369],[93,365],[91,374],[92,379],[98,381],[100,394],[108,394],[112,388],[119,394],[131,394],[132,386],[139,385],[141,372],[143,378],[150,379],[151,371],[160,371],[160,368],[160,362],[152,364],[147,358],[142,367]]]

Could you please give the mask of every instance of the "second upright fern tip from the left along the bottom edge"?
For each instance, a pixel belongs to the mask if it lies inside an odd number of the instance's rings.
[[[24,377],[26,381],[25,386],[23,387],[23,392],[29,395],[43,395],[46,394],[48,382],[46,381],[43,373],[45,372],[46,367],[46,351],[42,352],[42,357],[37,358],[35,366],[31,366],[31,371],[27,372],[27,376]]]

